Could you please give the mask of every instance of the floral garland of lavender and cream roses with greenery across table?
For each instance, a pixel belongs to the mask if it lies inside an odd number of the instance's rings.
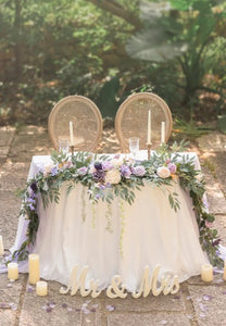
[[[60,187],[65,181],[67,192],[74,188],[75,184],[80,183],[87,187],[92,204],[103,200],[108,205],[114,197],[120,197],[121,201],[133,204],[134,190],[140,190],[145,186],[143,181],[152,183],[156,187],[172,186],[173,183],[179,181],[192,199],[202,249],[206,251],[213,265],[222,266],[223,262],[217,255],[221,240],[217,238],[217,230],[211,228],[214,216],[208,213],[203,201],[205,191],[203,176],[194,168],[194,159],[179,154],[178,150],[181,150],[181,147],[177,143],[171,148],[165,145],[161,146],[147,161],[126,160],[120,155],[113,159],[108,155],[97,156],[88,152],[78,152],[73,156],[54,152],[51,156],[52,164],[45,166],[33,179],[28,180],[26,188],[20,193],[23,200],[20,214],[26,216],[29,223],[27,239],[20,250],[13,253],[13,260],[25,260],[29,244],[35,243],[39,225],[38,195],[41,197],[43,208],[52,201],[58,203]],[[172,209],[179,210],[176,192],[170,191],[168,200]]]

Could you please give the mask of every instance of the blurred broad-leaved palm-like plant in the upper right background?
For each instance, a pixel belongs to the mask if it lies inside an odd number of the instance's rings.
[[[218,25],[225,22],[224,7],[214,7],[217,4],[214,0],[170,3],[141,5],[145,27],[128,41],[127,51],[133,58],[151,62],[177,60],[183,74],[183,82],[176,80],[177,86],[184,89],[184,104],[192,105],[200,89],[219,92],[208,86],[205,76],[213,70],[208,49],[218,37]]]

